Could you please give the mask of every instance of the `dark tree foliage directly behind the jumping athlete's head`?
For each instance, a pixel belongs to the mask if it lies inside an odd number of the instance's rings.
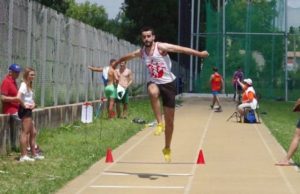
[[[177,0],[125,0],[122,10],[128,24],[122,27],[122,34],[130,42],[140,43],[140,29],[151,26],[158,41],[177,43]]]

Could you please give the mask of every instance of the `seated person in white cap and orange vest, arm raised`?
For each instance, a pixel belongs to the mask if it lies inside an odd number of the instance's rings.
[[[245,115],[245,109],[256,109],[257,107],[257,98],[255,94],[255,90],[252,86],[252,80],[250,78],[244,79],[244,83],[242,83],[239,79],[237,80],[239,85],[243,88],[242,95],[242,104],[238,106],[238,111],[240,113],[241,118]]]

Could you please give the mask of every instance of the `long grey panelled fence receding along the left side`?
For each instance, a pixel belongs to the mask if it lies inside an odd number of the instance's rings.
[[[30,0],[0,0],[0,78],[9,64],[36,70],[36,103],[41,107],[99,99],[103,84],[89,65],[107,66],[111,58],[137,46],[64,17]],[[134,83],[146,80],[139,60],[128,63]]]

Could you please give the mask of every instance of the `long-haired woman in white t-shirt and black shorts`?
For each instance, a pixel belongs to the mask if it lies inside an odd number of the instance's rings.
[[[18,115],[22,120],[22,133],[20,137],[21,145],[21,157],[20,162],[42,160],[44,156],[36,153],[35,150],[35,138],[34,123],[32,120],[32,110],[35,108],[35,102],[33,99],[32,82],[35,77],[34,69],[27,67],[24,70],[23,82],[20,85],[17,98],[19,99],[20,106],[18,109]],[[32,158],[27,155],[27,142],[29,136],[29,144],[31,148]]]

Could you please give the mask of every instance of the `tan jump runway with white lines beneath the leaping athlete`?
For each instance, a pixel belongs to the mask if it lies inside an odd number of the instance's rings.
[[[274,165],[285,152],[265,125],[226,121],[235,105],[222,103],[223,112],[214,112],[209,100],[184,98],[171,163],[161,152],[164,135],[146,128],[113,150],[114,163],[99,160],[58,193],[300,194],[298,169]],[[199,150],[205,164],[196,164]]]

